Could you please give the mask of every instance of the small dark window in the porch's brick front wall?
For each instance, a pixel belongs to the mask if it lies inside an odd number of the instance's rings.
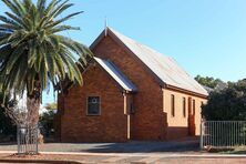
[[[88,98],[88,115],[100,115],[100,98],[89,96]]]

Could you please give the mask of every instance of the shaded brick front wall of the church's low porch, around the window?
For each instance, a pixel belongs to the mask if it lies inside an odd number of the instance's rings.
[[[98,64],[83,74],[83,86],[72,86],[64,96],[62,142],[123,142],[126,115],[121,88]],[[86,98],[101,98],[101,115],[86,115]]]

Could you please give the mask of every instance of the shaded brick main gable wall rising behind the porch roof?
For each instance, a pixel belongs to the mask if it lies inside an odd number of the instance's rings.
[[[163,112],[162,89],[145,65],[110,37],[104,38],[93,52],[113,61],[137,86],[139,91],[133,96],[136,111],[132,115],[133,140],[165,139],[166,114]]]

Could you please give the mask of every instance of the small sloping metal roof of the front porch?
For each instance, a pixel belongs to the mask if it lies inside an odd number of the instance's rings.
[[[111,61],[94,57],[94,60],[125,90],[135,92],[136,86]]]

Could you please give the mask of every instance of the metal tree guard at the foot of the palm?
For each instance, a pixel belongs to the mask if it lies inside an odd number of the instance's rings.
[[[18,154],[38,154],[38,126],[18,126]]]

